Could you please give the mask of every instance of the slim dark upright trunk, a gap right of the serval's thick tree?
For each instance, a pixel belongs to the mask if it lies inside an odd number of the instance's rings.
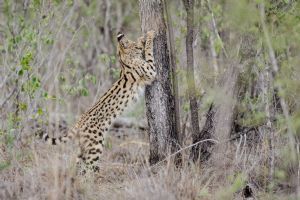
[[[194,52],[193,52],[193,41],[194,41],[194,0],[183,0],[183,4],[186,9],[186,57],[187,57],[187,85],[188,85],[188,96],[190,100],[191,110],[191,124],[192,124],[192,139],[193,143],[198,142],[200,127],[199,127],[199,116],[198,116],[198,103],[196,97],[196,87],[194,78]],[[198,152],[195,149],[192,151],[193,158],[198,156]]]

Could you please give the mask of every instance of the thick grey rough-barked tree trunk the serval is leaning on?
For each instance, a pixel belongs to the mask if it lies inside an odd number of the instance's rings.
[[[150,164],[176,150],[178,135],[174,131],[174,101],[171,87],[166,25],[161,0],[140,0],[142,31],[154,30],[156,80],[146,87],[146,115],[150,137]]]

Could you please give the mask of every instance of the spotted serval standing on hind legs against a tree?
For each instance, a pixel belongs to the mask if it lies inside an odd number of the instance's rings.
[[[43,139],[52,145],[74,140],[80,147],[78,161],[88,165],[97,163],[103,151],[105,133],[112,121],[132,102],[140,87],[151,84],[155,79],[153,39],[154,31],[148,32],[137,42],[128,40],[123,33],[118,33],[120,78],[81,115],[65,136],[51,138],[44,134]]]

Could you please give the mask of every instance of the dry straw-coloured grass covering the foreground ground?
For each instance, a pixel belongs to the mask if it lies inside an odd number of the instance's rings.
[[[251,147],[243,139],[237,141],[222,162],[225,166],[185,160],[176,168],[172,157],[149,166],[145,133],[132,129],[123,133],[121,138],[120,132],[109,134],[112,146],[106,149],[97,173],[79,174],[84,166],[75,165],[72,145],[51,147],[33,140],[27,146],[4,149],[1,156],[11,151],[11,157],[9,166],[1,170],[0,199],[229,200],[242,199],[247,183],[259,199],[281,199],[280,194],[287,198],[295,191],[263,189],[268,187],[268,150],[263,144]]]

